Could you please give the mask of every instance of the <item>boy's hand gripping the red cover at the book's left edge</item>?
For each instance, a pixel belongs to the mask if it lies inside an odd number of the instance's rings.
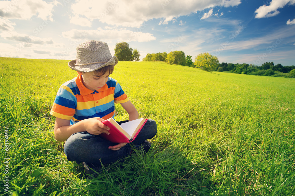
[[[102,118],[89,118],[83,120],[85,130],[92,135],[99,135],[101,133],[110,134],[108,130],[110,130],[106,125],[101,123],[104,121]]]

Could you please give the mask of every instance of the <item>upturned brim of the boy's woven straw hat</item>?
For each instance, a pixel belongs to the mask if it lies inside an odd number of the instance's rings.
[[[75,71],[81,71],[81,72],[92,72],[97,69],[100,69],[105,66],[109,65],[117,65],[118,63],[118,58],[116,56],[113,56],[108,62],[106,63],[95,63],[95,64],[90,64],[90,65],[76,65],[77,60],[72,60],[68,63],[68,66],[75,70]]]

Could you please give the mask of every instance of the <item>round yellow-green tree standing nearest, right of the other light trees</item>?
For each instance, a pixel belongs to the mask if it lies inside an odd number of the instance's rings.
[[[208,52],[200,53],[195,58],[194,64],[205,71],[214,71],[218,66],[219,60],[217,56],[213,56]]]

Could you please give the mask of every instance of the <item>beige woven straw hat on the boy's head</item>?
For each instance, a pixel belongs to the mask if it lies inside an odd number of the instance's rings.
[[[68,63],[76,71],[91,72],[108,65],[117,65],[118,59],[111,55],[109,46],[102,41],[88,40],[77,46],[75,60]]]

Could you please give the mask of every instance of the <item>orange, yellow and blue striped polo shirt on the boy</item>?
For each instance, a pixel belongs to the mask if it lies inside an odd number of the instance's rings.
[[[115,103],[127,101],[127,95],[113,78],[109,77],[102,88],[92,91],[83,85],[82,76],[78,75],[60,86],[50,114],[71,120],[70,125],[93,117],[114,118]]]

